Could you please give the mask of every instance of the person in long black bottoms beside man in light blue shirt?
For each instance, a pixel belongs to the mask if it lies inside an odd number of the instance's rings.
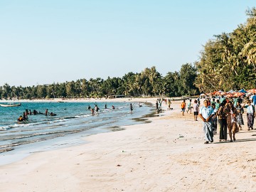
[[[225,142],[227,141],[227,132],[228,132],[227,117],[226,117],[226,113],[224,112],[224,107],[226,103],[227,101],[223,100],[223,102],[220,103],[220,108],[217,111],[218,122],[220,124],[220,141],[219,142],[221,142],[223,139]]]

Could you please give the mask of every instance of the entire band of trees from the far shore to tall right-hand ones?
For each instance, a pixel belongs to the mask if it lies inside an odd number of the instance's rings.
[[[245,24],[232,33],[222,33],[209,40],[200,60],[186,63],[181,70],[163,77],[155,67],[141,73],[127,73],[122,78],[102,78],[37,85],[33,87],[0,86],[1,98],[55,98],[198,95],[215,90],[256,87],[256,9],[248,9]]]

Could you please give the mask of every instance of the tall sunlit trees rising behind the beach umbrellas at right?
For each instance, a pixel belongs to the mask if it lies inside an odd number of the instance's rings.
[[[256,9],[248,9],[245,24],[208,41],[196,63],[196,87],[201,92],[256,87]]]

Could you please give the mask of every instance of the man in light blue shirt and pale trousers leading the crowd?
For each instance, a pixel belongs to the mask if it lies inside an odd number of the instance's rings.
[[[206,142],[213,142],[213,125],[211,122],[211,117],[214,116],[213,107],[208,106],[208,101],[203,101],[203,107],[199,110],[199,117],[203,120],[203,132],[205,134]]]

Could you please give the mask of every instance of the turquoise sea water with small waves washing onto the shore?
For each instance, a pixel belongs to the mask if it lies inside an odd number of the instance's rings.
[[[132,102],[22,102],[20,107],[0,107],[0,164],[6,164],[24,155],[81,144],[90,134],[120,130],[121,126],[137,124],[136,119],[151,113],[153,107]],[[87,109],[100,108],[92,115]],[[107,105],[107,109],[105,109]],[[112,105],[115,109],[112,109]],[[48,116],[44,113],[48,109]],[[43,114],[28,115],[28,121],[17,122],[25,110]],[[50,112],[57,114],[49,116]],[[15,156],[18,156],[15,157]]]

